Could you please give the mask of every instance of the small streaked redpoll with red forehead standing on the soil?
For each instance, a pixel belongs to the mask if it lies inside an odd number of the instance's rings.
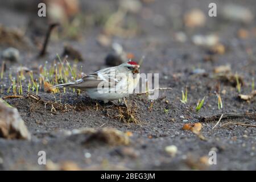
[[[52,88],[67,86],[81,89],[90,98],[107,103],[132,94],[138,82],[139,65],[134,61],[129,61],[117,67],[101,69],[79,80],[55,85]]]

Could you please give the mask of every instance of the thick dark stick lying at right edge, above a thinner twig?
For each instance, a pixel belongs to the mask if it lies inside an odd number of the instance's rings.
[[[221,114],[212,115],[209,117],[199,118],[200,122],[216,121],[221,117]],[[222,120],[224,119],[256,119],[256,113],[226,113],[223,114]]]

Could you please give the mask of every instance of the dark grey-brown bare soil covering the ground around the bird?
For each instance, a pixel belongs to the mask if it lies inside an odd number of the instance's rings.
[[[117,5],[115,1],[82,1],[81,8],[84,13],[90,14],[102,10],[101,3],[108,6],[114,12]],[[238,5],[249,7],[255,13],[255,1],[216,1],[217,7],[222,3],[234,2]],[[182,21],[183,14],[193,8],[199,8],[205,12],[207,23],[202,28],[193,30],[184,26],[174,26],[174,17],[170,15],[170,6],[179,6],[180,15],[176,19]],[[162,15],[165,23],[156,26],[152,19],[143,19],[141,13],[133,14],[139,24],[139,33],[134,38],[118,38],[113,40],[120,43],[126,52],[134,53],[139,60],[144,55],[145,59],[141,67],[143,73],[159,73],[160,87],[171,87],[172,90],[159,91],[158,100],[154,101],[151,110],[150,100],[145,95],[131,96],[127,102],[135,102],[137,107],[135,117],[139,123],[125,123],[120,121],[117,115],[118,106],[114,104],[102,104],[96,109],[96,101],[90,100],[86,93],[77,96],[76,93],[51,94],[39,90],[38,95],[45,101],[61,100],[63,104],[76,106],[69,111],[57,109],[57,113],[51,113],[51,107],[45,107],[31,98],[14,98],[6,100],[10,105],[19,110],[28,130],[32,135],[31,141],[0,139],[0,169],[46,169],[46,166],[38,164],[38,152],[46,151],[47,160],[54,163],[73,161],[85,169],[210,169],[210,170],[255,170],[256,169],[256,132],[255,127],[231,125],[221,127],[226,122],[242,122],[255,125],[253,119],[227,119],[221,121],[214,130],[212,127],[217,121],[201,122],[203,128],[201,134],[207,140],[201,140],[191,131],[182,130],[185,123],[199,122],[200,117],[225,114],[225,113],[255,113],[255,98],[250,102],[238,99],[237,89],[229,84],[221,82],[213,76],[213,68],[219,65],[230,64],[233,73],[243,77],[244,85],[241,92],[251,92],[251,78],[255,77],[256,68],[256,23],[242,24],[222,20],[217,15],[215,18],[208,16],[208,1],[155,1],[143,3],[143,7],[152,10],[154,14]],[[7,5],[6,5],[7,6]],[[7,6],[9,7],[9,6]],[[2,14],[8,14],[3,18]],[[17,12],[11,7],[5,9],[0,6],[0,23],[6,27],[26,28],[30,13]],[[35,15],[36,16],[36,15]],[[36,18],[36,17],[35,17]],[[38,18],[39,19],[39,18]],[[249,37],[240,39],[237,31],[241,28],[249,31]],[[47,29],[47,28],[46,28]],[[86,27],[81,32],[79,40],[51,39],[48,46],[48,54],[38,58],[39,49],[35,46],[20,48],[20,62],[7,63],[7,68],[15,68],[19,65],[28,68],[36,68],[45,61],[52,63],[56,53],[63,52],[65,43],[78,49],[84,61],[82,71],[86,74],[105,68],[104,59],[111,51],[97,43],[97,36],[102,31],[101,25]],[[183,31],[188,35],[185,43],[177,42],[175,32]],[[214,55],[213,61],[205,61],[207,48],[195,46],[191,42],[191,36],[195,34],[209,34],[214,32],[220,38],[220,42],[226,46],[223,55]],[[28,35],[27,39],[29,39]],[[43,36],[40,37],[43,40]],[[1,40],[0,40],[1,42]],[[31,43],[32,45],[32,43]],[[1,44],[0,52],[8,46]],[[248,53],[251,50],[252,54]],[[72,60],[69,60],[73,64]],[[2,61],[1,61],[2,64]],[[192,74],[193,69],[205,69],[206,74]],[[9,70],[9,69],[7,69]],[[11,84],[8,75],[1,84],[6,84],[5,92]],[[256,77],[255,77],[256,78]],[[220,83],[223,109],[218,110],[217,97],[214,94],[216,85]],[[188,103],[182,104],[181,90],[188,88]],[[27,88],[27,85],[24,85]],[[23,95],[26,96],[26,89]],[[196,111],[197,101],[205,97],[204,106]],[[167,111],[168,110],[168,111]],[[130,131],[133,152],[138,154],[131,156],[123,152],[125,146],[110,146],[108,144],[93,143],[82,144],[81,135],[67,137],[65,133],[82,127],[113,127],[123,132]],[[165,151],[166,146],[177,147],[176,156],[172,157]],[[126,146],[127,147],[127,146]],[[217,151],[217,164],[207,165],[202,157],[207,156],[210,150]],[[85,153],[91,154],[85,158]]]

